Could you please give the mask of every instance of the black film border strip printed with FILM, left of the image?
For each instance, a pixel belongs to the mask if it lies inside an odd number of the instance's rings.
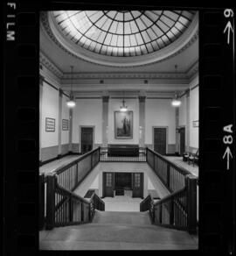
[[[39,13],[34,3],[3,1],[5,254],[38,251]]]

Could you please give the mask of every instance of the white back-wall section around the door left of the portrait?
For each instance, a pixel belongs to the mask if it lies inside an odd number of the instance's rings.
[[[80,125],[95,126],[94,144],[102,143],[102,100],[77,99],[73,109],[73,143],[80,143]]]

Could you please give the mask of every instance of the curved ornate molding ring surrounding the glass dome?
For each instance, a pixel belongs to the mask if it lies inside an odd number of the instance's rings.
[[[126,64],[126,62],[124,62],[124,59],[120,60],[119,58],[116,58],[115,59],[116,61],[113,63],[113,62],[108,62],[108,58],[105,57],[105,56],[99,56],[100,60],[94,60],[91,57],[89,58],[89,57],[78,55],[76,53],[76,51],[73,51],[74,53],[72,53],[72,51],[69,51],[67,49],[68,47],[66,48],[65,46],[63,46],[62,43],[59,42],[58,39],[56,39],[54,33],[52,32],[52,28],[51,28],[51,25],[50,25],[50,22],[49,22],[49,15],[48,15],[47,11],[41,12],[40,22],[42,24],[42,27],[43,27],[44,31],[47,33],[47,35],[50,37],[50,39],[52,39],[52,41],[57,46],[59,46],[59,48],[62,51],[64,51],[65,53],[73,56],[76,59],[87,61],[88,63],[93,63],[93,64],[100,65],[100,66],[109,66],[109,67],[119,67],[119,68],[142,67],[142,66],[152,65],[154,63],[161,62],[163,60],[169,60],[170,58],[173,58],[173,57],[177,56],[179,53],[184,52],[184,50],[186,50],[188,47],[190,47],[198,39],[198,14],[197,14],[194,21],[193,21],[193,27],[191,26],[191,29],[189,27],[187,32],[185,32],[185,34],[187,34],[187,36],[190,37],[188,39],[188,41],[185,42],[187,39],[182,39],[182,37],[177,39],[178,42],[183,41],[183,46],[178,46],[177,51],[175,51],[176,44],[173,43],[173,44],[170,44],[170,46],[167,46],[167,47],[163,48],[163,50],[164,50],[163,53],[165,53],[165,56],[163,54],[163,56],[161,58],[157,59],[157,60],[155,60],[156,59],[155,58],[156,53],[153,53],[153,54],[150,53],[150,54],[144,55],[145,58],[147,58],[147,61],[149,60],[149,62],[146,62],[146,63],[144,63],[144,61],[143,61],[144,60],[143,56],[142,56],[142,62],[137,62],[137,63],[134,62],[134,63]],[[51,24],[52,24],[52,21],[51,21]],[[58,34],[59,34],[59,32],[58,32]],[[63,39],[62,36],[61,36],[61,39]],[[66,41],[66,39],[64,39],[64,41]],[[84,49],[82,49],[82,50],[84,50]],[[85,51],[87,51],[87,50],[85,50]],[[77,52],[78,52],[78,49],[77,49]],[[87,53],[87,52],[85,52],[85,53]],[[167,54],[168,52],[170,52],[170,53]],[[132,57],[130,57],[130,58],[132,58]],[[136,58],[134,60],[139,60],[139,59]],[[141,60],[141,58],[140,58],[140,60]]]

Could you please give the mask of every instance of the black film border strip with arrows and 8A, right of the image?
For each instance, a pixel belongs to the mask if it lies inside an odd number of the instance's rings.
[[[200,11],[198,241],[209,254],[235,252],[233,28],[232,9]]]

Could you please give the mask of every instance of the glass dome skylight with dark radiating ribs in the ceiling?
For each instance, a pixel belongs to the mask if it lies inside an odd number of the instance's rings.
[[[60,32],[107,56],[154,53],[178,39],[196,11],[52,11]]]

